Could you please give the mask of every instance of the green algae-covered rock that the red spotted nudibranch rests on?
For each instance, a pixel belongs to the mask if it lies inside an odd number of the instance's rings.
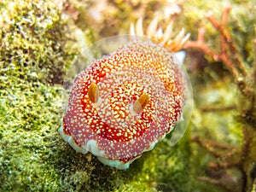
[[[62,140],[63,77],[92,36],[61,8],[51,1],[1,2],[0,190],[167,191],[189,183],[180,177],[189,170],[188,137],[171,150],[165,140],[127,171],[77,154]]]

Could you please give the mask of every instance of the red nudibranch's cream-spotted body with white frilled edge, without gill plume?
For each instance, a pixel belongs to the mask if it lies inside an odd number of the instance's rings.
[[[79,73],[59,131],[79,153],[127,169],[181,119],[185,89],[174,55],[135,39]]]

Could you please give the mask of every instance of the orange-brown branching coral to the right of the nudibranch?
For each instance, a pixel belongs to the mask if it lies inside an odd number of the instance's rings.
[[[237,136],[242,136],[242,142],[240,146],[229,146],[224,143],[218,143],[218,141],[212,142],[199,136],[193,137],[192,141],[206,148],[216,158],[207,163],[208,172],[211,173],[208,176],[198,177],[198,179],[218,184],[218,186],[222,186],[229,191],[250,191],[253,183],[250,172],[256,160],[255,155],[253,155],[255,153],[255,151],[253,152],[253,145],[255,144],[253,137],[256,135],[255,72],[253,70],[254,67],[248,66],[247,62],[243,60],[241,50],[236,48],[236,44],[227,30],[226,25],[230,9],[230,6],[223,9],[219,22],[211,12],[207,14],[207,19],[219,32],[219,51],[212,50],[205,42],[204,34],[206,31],[204,28],[199,29],[197,39],[188,41],[184,48],[200,49],[204,54],[210,56],[213,61],[221,61],[230,71],[236,88],[241,94],[238,97],[238,101],[228,107],[205,107],[203,111],[236,110],[235,121],[241,124],[236,127],[236,129],[241,130],[237,131],[241,132]],[[252,70],[249,70],[248,67]],[[215,178],[216,174],[218,174],[218,178]]]

